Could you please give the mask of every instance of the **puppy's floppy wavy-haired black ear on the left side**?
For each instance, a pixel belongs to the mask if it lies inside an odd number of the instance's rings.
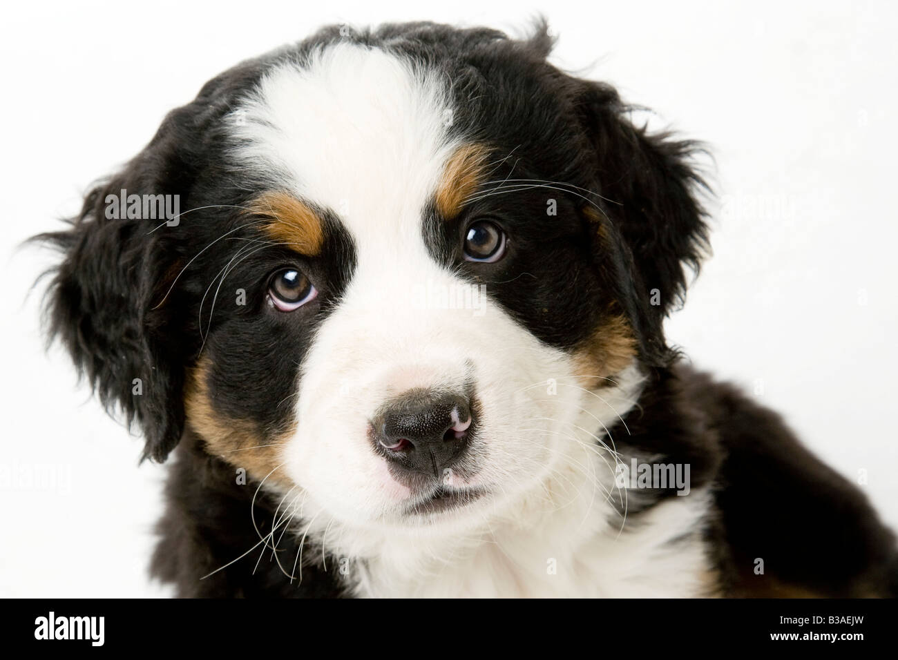
[[[182,260],[163,230],[175,231],[164,225],[178,224],[170,216],[189,189],[178,136],[188,115],[173,111],[141,154],[90,191],[66,230],[32,239],[64,255],[46,299],[50,339],[62,341],[107,409],[136,420],[144,458],[160,462],[184,424],[183,315],[179,294],[167,295]]]

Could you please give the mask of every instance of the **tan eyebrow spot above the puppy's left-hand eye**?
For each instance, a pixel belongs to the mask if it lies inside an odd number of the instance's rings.
[[[308,256],[321,252],[324,242],[321,217],[289,193],[262,193],[252,201],[250,212],[264,218],[262,231],[271,239],[287,243],[295,251]]]

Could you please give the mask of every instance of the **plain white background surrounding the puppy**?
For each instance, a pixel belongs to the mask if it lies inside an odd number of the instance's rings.
[[[140,441],[75,386],[61,351],[44,352],[40,295],[26,295],[50,255],[15,245],[58,227],[208,78],[330,22],[515,32],[545,13],[559,66],[707,141],[715,254],[670,338],[781,411],[851,480],[867,471],[862,488],[898,526],[895,4],[142,6],[4,9],[0,594],[166,593],[145,576],[164,468],[138,468]],[[55,487],[22,478],[36,471],[57,475]]]

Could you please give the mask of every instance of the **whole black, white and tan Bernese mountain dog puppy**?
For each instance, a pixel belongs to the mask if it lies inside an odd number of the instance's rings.
[[[665,341],[700,145],[515,40],[335,26],[87,195],[48,293],[172,454],[180,596],[876,596],[892,532]]]

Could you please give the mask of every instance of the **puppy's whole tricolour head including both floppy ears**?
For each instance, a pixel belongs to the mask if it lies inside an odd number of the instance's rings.
[[[148,456],[188,434],[304,519],[391,533],[585,470],[705,227],[691,145],[549,48],[322,31],[211,81],[47,236],[54,330]],[[119,191],[180,215],[110,218]]]

